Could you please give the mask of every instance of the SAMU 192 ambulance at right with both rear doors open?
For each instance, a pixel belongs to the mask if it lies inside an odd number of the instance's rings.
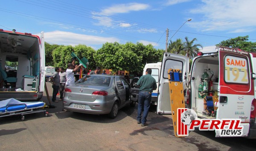
[[[179,69],[187,100],[170,100],[169,69]],[[160,71],[158,114],[174,114],[173,104],[187,104],[201,119],[241,119],[242,134],[256,138],[256,53],[219,46],[216,52],[193,59],[165,52]],[[182,93],[180,91],[180,93]],[[181,105],[181,106],[182,106]],[[223,135],[216,132],[216,137]]]

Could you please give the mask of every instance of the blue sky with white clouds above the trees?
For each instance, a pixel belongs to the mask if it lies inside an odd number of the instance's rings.
[[[256,42],[255,6],[256,0],[1,0],[0,29],[44,31],[49,44],[96,50],[115,41],[165,49],[166,29],[170,40],[183,25],[171,40],[197,38],[206,51],[238,36]]]

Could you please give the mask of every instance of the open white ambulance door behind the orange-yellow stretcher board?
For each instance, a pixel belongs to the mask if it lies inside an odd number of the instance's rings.
[[[172,114],[170,94],[169,94],[169,69],[180,69],[183,79],[183,90],[186,89],[186,79],[189,70],[189,58],[183,55],[177,55],[165,52],[160,70],[160,81],[158,87],[157,114]]]

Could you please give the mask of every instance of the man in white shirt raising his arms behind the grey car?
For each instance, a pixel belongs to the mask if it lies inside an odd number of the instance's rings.
[[[75,84],[75,78],[74,78],[74,72],[76,72],[82,64],[79,64],[79,66],[75,67],[75,61],[76,59],[73,59],[72,63],[67,64],[67,70],[66,70],[66,84],[65,88],[71,84]]]

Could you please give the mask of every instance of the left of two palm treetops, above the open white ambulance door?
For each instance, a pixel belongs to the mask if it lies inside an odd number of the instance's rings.
[[[179,38],[174,42],[170,41],[168,46],[168,52],[185,55],[185,52],[183,51],[182,40]]]

